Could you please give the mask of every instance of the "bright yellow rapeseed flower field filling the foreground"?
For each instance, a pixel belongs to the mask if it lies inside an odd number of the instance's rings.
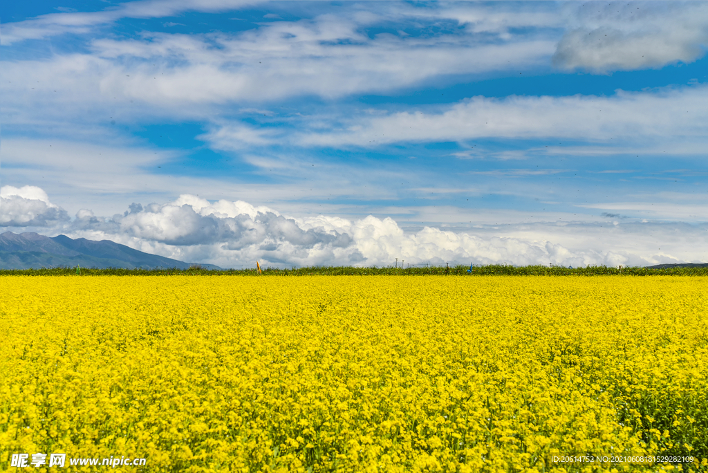
[[[708,471],[707,284],[3,277],[0,469]]]

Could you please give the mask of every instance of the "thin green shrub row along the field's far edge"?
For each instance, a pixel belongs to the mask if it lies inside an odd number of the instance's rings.
[[[586,268],[564,268],[561,266],[510,266],[510,265],[489,265],[474,266],[472,273],[468,272],[469,266],[430,266],[426,268],[395,268],[386,266],[377,268],[355,268],[353,266],[307,266],[304,268],[279,269],[265,268],[262,270],[263,276],[308,276],[308,275],[544,275],[544,276],[594,276],[594,275],[708,275],[708,268],[612,268],[608,266],[587,266]],[[161,268],[161,269],[125,269],[125,268],[81,268],[81,275],[120,275],[120,276],[142,276],[142,275],[242,275],[258,276],[258,270],[252,269],[229,269],[229,270],[207,270],[194,266],[189,269]],[[31,276],[74,276],[77,274],[74,268],[40,268],[40,269],[18,269],[0,270],[0,275],[31,275]]]

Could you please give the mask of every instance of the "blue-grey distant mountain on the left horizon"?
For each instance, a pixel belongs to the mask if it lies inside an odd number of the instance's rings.
[[[0,269],[76,265],[84,268],[187,269],[194,263],[143,253],[110,240],[74,240],[65,235],[50,238],[33,232],[0,234]],[[221,269],[212,264],[199,266],[205,269]]]

